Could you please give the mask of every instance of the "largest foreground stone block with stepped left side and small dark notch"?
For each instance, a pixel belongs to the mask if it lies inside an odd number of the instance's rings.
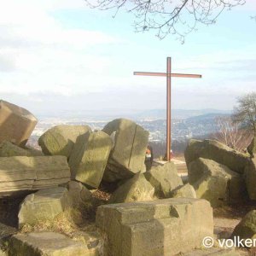
[[[172,256],[213,237],[209,202],[188,198],[98,207],[96,225],[106,232],[112,256]]]

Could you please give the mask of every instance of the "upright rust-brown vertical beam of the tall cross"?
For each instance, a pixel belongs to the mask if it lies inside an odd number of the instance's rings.
[[[172,73],[172,60],[171,57],[167,57],[166,61],[166,92],[167,92],[167,98],[166,98],[166,160],[170,161],[170,153],[171,153],[171,73]]]

